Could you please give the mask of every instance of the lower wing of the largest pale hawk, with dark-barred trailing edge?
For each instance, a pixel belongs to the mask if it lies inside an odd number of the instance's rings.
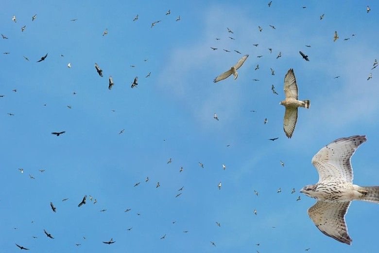
[[[316,227],[325,235],[350,245],[353,241],[347,233],[345,214],[351,201],[329,203],[317,201],[308,209],[308,215]]]

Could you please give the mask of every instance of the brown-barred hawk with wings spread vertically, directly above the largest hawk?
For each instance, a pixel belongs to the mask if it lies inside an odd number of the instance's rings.
[[[298,100],[298,90],[293,69],[290,69],[284,77],[284,93],[286,99],[279,104],[286,108],[283,129],[286,136],[291,138],[297,122],[297,108],[310,108],[310,100]]]

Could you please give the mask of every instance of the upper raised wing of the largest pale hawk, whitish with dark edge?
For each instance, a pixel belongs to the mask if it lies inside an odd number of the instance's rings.
[[[337,139],[321,148],[312,158],[320,176],[319,181],[326,179],[342,179],[353,181],[353,168],[350,159],[355,150],[366,141],[366,136],[351,136]]]

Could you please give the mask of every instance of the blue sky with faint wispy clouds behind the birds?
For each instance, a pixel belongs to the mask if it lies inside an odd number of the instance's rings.
[[[269,8],[267,3],[3,3],[0,32],[9,39],[0,39],[0,52],[10,54],[0,55],[0,252],[19,252],[15,243],[42,253],[376,251],[377,205],[351,204],[346,222],[353,243],[347,246],[314,226],[307,210],[315,200],[298,191],[318,181],[310,160],[319,149],[356,134],[368,141],[352,159],[354,183],[379,184],[378,70],[370,70],[379,52],[379,5],[273,1]],[[150,28],[156,20],[162,21]],[[105,28],[108,35],[102,36]],[[250,55],[238,79],[214,84],[214,77],[241,58],[233,50]],[[46,53],[46,60],[36,63]],[[287,139],[279,102],[290,68],[299,98],[311,105],[299,109],[293,138]],[[138,88],[131,89],[135,76]],[[59,137],[51,134],[63,130]],[[279,139],[267,140],[273,137]],[[84,195],[98,202],[88,198],[78,208]],[[116,243],[102,243],[111,237]]]

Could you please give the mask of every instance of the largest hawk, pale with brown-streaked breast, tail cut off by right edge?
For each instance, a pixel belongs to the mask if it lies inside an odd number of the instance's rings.
[[[300,192],[317,199],[308,215],[325,235],[350,245],[345,214],[352,200],[379,203],[379,186],[361,187],[353,184],[353,168],[350,159],[355,150],[366,141],[366,136],[340,138],[323,147],[312,158],[320,176],[313,185]]]

